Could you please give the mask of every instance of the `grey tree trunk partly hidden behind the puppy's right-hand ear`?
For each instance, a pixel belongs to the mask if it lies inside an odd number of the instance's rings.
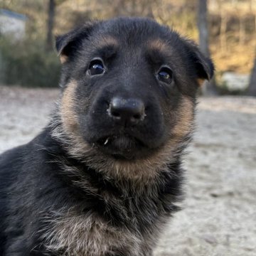
[[[199,31],[199,47],[207,57],[210,56],[208,46],[208,21],[207,21],[207,0],[198,0],[198,31]],[[202,88],[203,95],[216,95],[215,79],[205,82]]]

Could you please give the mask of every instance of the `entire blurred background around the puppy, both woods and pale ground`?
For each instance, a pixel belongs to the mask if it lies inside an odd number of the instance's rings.
[[[55,108],[55,35],[114,16],[155,18],[215,62],[184,161],[183,210],[154,256],[255,256],[256,0],[0,0],[0,154],[33,139]]]

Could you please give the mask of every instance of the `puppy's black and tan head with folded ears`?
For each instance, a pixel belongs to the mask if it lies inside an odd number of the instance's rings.
[[[194,43],[146,18],[117,18],[85,23],[56,48],[61,123],[74,155],[166,161],[188,138],[196,90],[213,75]]]

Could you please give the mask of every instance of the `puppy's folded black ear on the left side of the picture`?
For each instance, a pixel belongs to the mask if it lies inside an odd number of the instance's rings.
[[[67,62],[70,55],[78,50],[82,45],[82,40],[90,35],[92,29],[97,23],[97,21],[88,21],[79,28],[75,28],[73,31],[65,33],[63,36],[56,37],[55,47],[58,51],[58,55],[60,56],[61,63]]]

